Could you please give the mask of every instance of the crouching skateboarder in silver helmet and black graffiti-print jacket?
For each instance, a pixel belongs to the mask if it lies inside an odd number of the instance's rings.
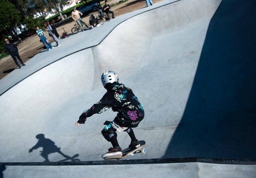
[[[118,112],[115,119],[102,129],[103,137],[112,143],[112,148],[102,155],[102,158],[109,156],[122,156],[122,148],[118,144],[117,133],[126,131],[131,138],[129,148],[138,148],[140,146],[137,138],[133,133],[133,129],[138,126],[144,117],[144,109],[139,103],[138,98],[133,94],[133,90],[127,88],[124,84],[118,83],[118,74],[108,70],[101,76],[101,81],[107,93],[102,99],[82,113],[79,120],[75,123],[84,124],[88,117],[93,114],[100,114],[112,108],[114,112]]]

